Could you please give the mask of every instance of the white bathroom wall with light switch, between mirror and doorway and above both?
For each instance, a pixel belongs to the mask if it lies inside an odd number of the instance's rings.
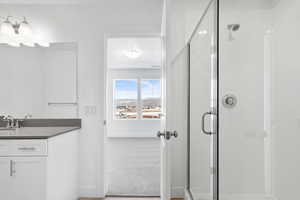
[[[0,5],[2,15],[26,16],[52,42],[77,42],[79,67],[80,192],[104,196],[104,37],[159,34],[160,0],[101,1],[101,5]],[[96,106],[85,115],[85,106]]]

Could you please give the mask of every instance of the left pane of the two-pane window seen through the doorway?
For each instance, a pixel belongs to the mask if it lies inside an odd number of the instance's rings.
[[[114,89],[115,119],[136,119],[138,116],[137,80],[115,80]]]

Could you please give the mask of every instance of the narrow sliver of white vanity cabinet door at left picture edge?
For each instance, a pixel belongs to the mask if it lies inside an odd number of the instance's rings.
[[[11,199],[10,159],[0,157],[0,199]]]

